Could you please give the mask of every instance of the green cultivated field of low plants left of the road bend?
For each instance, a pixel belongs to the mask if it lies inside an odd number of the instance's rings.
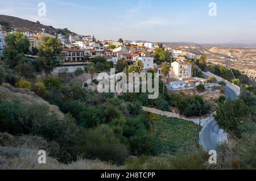
[[[158,154],[188,153],[199,150],[199,128],[191,121],[161,117],[154,121],[156,151]]]

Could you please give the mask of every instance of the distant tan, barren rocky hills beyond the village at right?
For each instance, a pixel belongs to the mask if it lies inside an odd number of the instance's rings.
[[[221,64],[229,68],[240,70],[251,80],[256,80],[256,48],[245,45],[217,45],[195,43],[163,43],[172,48],[181,48],[184,53],[201,55],[207,54],[212,64]],[[248,48],[250,47],[250,48]]]

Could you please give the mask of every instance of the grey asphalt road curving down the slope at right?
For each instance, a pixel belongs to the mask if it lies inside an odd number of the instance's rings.
[[[228,86],[225,86],[225,94],[229,99],[236,99],[237,94]],[[200,144],[207,151],[215,150],[216,146],[220,142],[224,142],[228,139],[228,134],[223,131],[223,129],[218,128],[217,122],[214,118],[208,123],[205,123],[201,133],[200,133]]]

